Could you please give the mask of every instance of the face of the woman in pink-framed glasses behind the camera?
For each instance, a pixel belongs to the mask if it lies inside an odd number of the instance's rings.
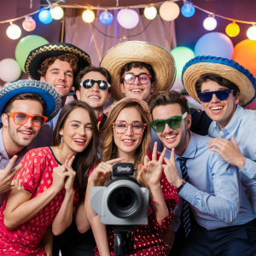
[[[120,111],[115,122],[126,122],[126,124],[132,124],[134,122],[143,122],[141,113],[136,108],[124,108]],[[143,141],[142,134],[134,134],[131,131],[131,125],[128,125],[128,129],[124,134],[116,134],[113,131],[113,142],[118,148],[119,157],[123,157],[128,154],[131,158],[134,157],[136,149]]]

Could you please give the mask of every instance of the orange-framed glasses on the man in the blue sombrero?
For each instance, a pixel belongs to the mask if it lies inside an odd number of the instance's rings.
[[[48,119],[46,116],[40,115],[40,114],[28,115],[22,112],[14,112],[14,113],[6,113],[6,114],[14,119],[16,125],[25,125],[28,119],[32,119],[33,126],[41,127],[44,125],[44,123]]]

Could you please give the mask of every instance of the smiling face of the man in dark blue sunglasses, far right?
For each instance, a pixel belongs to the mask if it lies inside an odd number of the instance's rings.
[[[217,82],[207,80],[201,84],[201,92],[214,91],[214,90],[226,90],[229,89],[223,85],[219,85]],[[201,106],[206,111],[207,115],[214,121],[217,121],[220,129],[223,129],[229,124],[230,119],[236,111],[236,105],[239,102],[239,92],[236,96],[230,92],[230,96],[224,100],[218,100],[218,97],[213,94],[210,102],[201,102]]]

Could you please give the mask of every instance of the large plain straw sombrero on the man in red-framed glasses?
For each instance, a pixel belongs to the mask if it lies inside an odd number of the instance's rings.
[[[156,44],[129,41],[117,44],[103,56],[100,67],[111,74],[111,96],[119,101],[125,95],[120,90],[120,73],[125,64],[140,61],[150,64],[155,73],[154,92],[170,90],[176,77],[175,61],[172,55]]]

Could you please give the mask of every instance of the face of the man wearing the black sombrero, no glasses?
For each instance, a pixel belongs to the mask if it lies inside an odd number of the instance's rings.
[[[53,86],[61,98],[64,98],[73,86],[73,69],[67,61],[55,60],[40,81]]]

